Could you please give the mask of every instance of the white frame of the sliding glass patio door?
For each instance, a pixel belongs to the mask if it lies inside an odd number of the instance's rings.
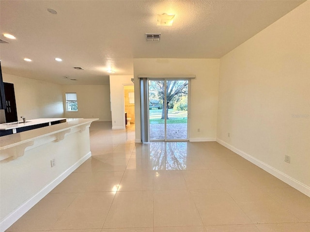
[[[163,102],[163,107],[164,108],[164,114],[165,114],[165,123],[164,123],[164,128],[165,128],[165,136],[164,139],[150,139],[150,108],[147,108],[147,116],[148,116],[148,138],[149,142],[175,142],[175,141],[189,141],[189,117],[190,117],[190,79],[191,78],[147,78],[147,82],[149,81],[164,81],[164,102]],[[187,84],[187,128],[186,128],[186,139],[167,139],[167,81],[188,81]],[[149,88],[149,85],[148,85]],[[150,99],[149,99],[149,93],[147,94],[147,104],[148,106],[150,105]]]

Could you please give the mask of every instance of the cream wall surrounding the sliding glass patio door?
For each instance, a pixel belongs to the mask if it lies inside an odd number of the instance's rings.
[[[140,74],[196,75],[191,80],[189,138],[190,141],[215,140],[218,70],[219,59],[134,59],[136,142],[141,141]]]

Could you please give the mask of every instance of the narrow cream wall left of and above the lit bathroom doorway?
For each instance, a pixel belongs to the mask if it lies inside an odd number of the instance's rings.
[[[110,75],[112,130],[126,128],[124,119],[124,85],[132,85],[131,78],[133,78],[132,75]]]

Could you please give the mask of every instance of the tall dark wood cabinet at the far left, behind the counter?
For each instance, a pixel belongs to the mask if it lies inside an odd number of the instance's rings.
[[[3,83],[4,93],[5,93],[5,119],[6,122],[16,122],[17,119],[17,109],[15,101],[14,85],[12,83]]]

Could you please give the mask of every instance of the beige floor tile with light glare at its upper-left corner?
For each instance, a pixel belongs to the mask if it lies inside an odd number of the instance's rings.
[[[104,228],[153,227],[153,192],[117,192]]]

